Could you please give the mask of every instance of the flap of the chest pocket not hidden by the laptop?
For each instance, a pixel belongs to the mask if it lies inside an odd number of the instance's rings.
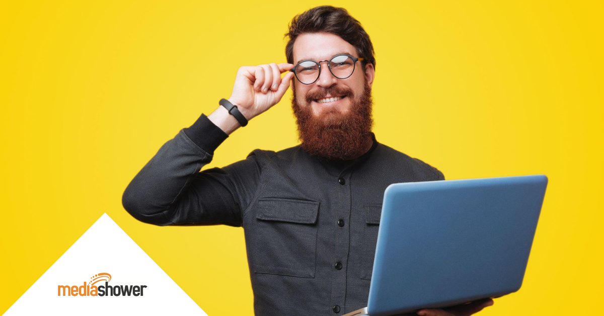
[[[257,219],[315,224],[319,202],[298,199],[259,199]]]

